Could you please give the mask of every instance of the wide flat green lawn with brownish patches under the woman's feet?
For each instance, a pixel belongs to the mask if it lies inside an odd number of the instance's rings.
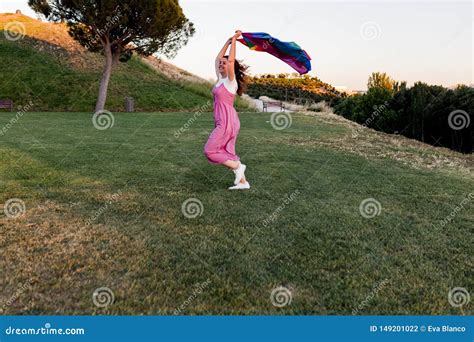
[[[115,114],[98,130],[88,113],[26,113],[8,126],[0,203],[26,211],[0,216],[3,313],[474,313],[448,301],[474,289],[472,156],[367,129],[351,139],[321,114],[279,131],[242,113],[252,189],[231,192],[233,174],[202,154],[212,114],[175,134],[193,115]],[[100,287],[115,296],[106,308]]]

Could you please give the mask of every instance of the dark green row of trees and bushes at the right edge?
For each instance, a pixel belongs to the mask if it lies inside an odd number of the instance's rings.
[[[338,98],[337,114],[367,127],[472,153],[474,88],[448,89],[417,82],[395,82],[385,73],[373,73],[367,93]]]

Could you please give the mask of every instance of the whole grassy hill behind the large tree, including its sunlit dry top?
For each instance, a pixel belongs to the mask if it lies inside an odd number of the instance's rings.
[[[18,23],[25,36],[6,39],[3,29]],[[103,58],[85,51],[64,24],[40,22],[21,14],[0,14],[0,99],[17,106],[30,101],[35,111],[92,111]],[[106,108],[121,111],[135,98],[137,111],[197,110],[210,99],[211,84],[154,57],[134,57],[112,74]],[[238,101],[240,107],[246,107]]]

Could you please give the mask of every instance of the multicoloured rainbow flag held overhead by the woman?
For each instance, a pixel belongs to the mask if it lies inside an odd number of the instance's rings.
[[[281,59],[300,75],[311,70],[311,57],[295,42],[282,42],[265,32],[245,32],[239,42],[255,51],[264,51]]]

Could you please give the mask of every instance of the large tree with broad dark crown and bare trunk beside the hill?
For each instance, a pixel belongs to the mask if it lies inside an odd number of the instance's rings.
[[[51,21],[66,22],[82,46],[105,56],[96,112],[103,110],[112,68],[132,54],[173,57],[194,33],[178,0],[28,0]]]

